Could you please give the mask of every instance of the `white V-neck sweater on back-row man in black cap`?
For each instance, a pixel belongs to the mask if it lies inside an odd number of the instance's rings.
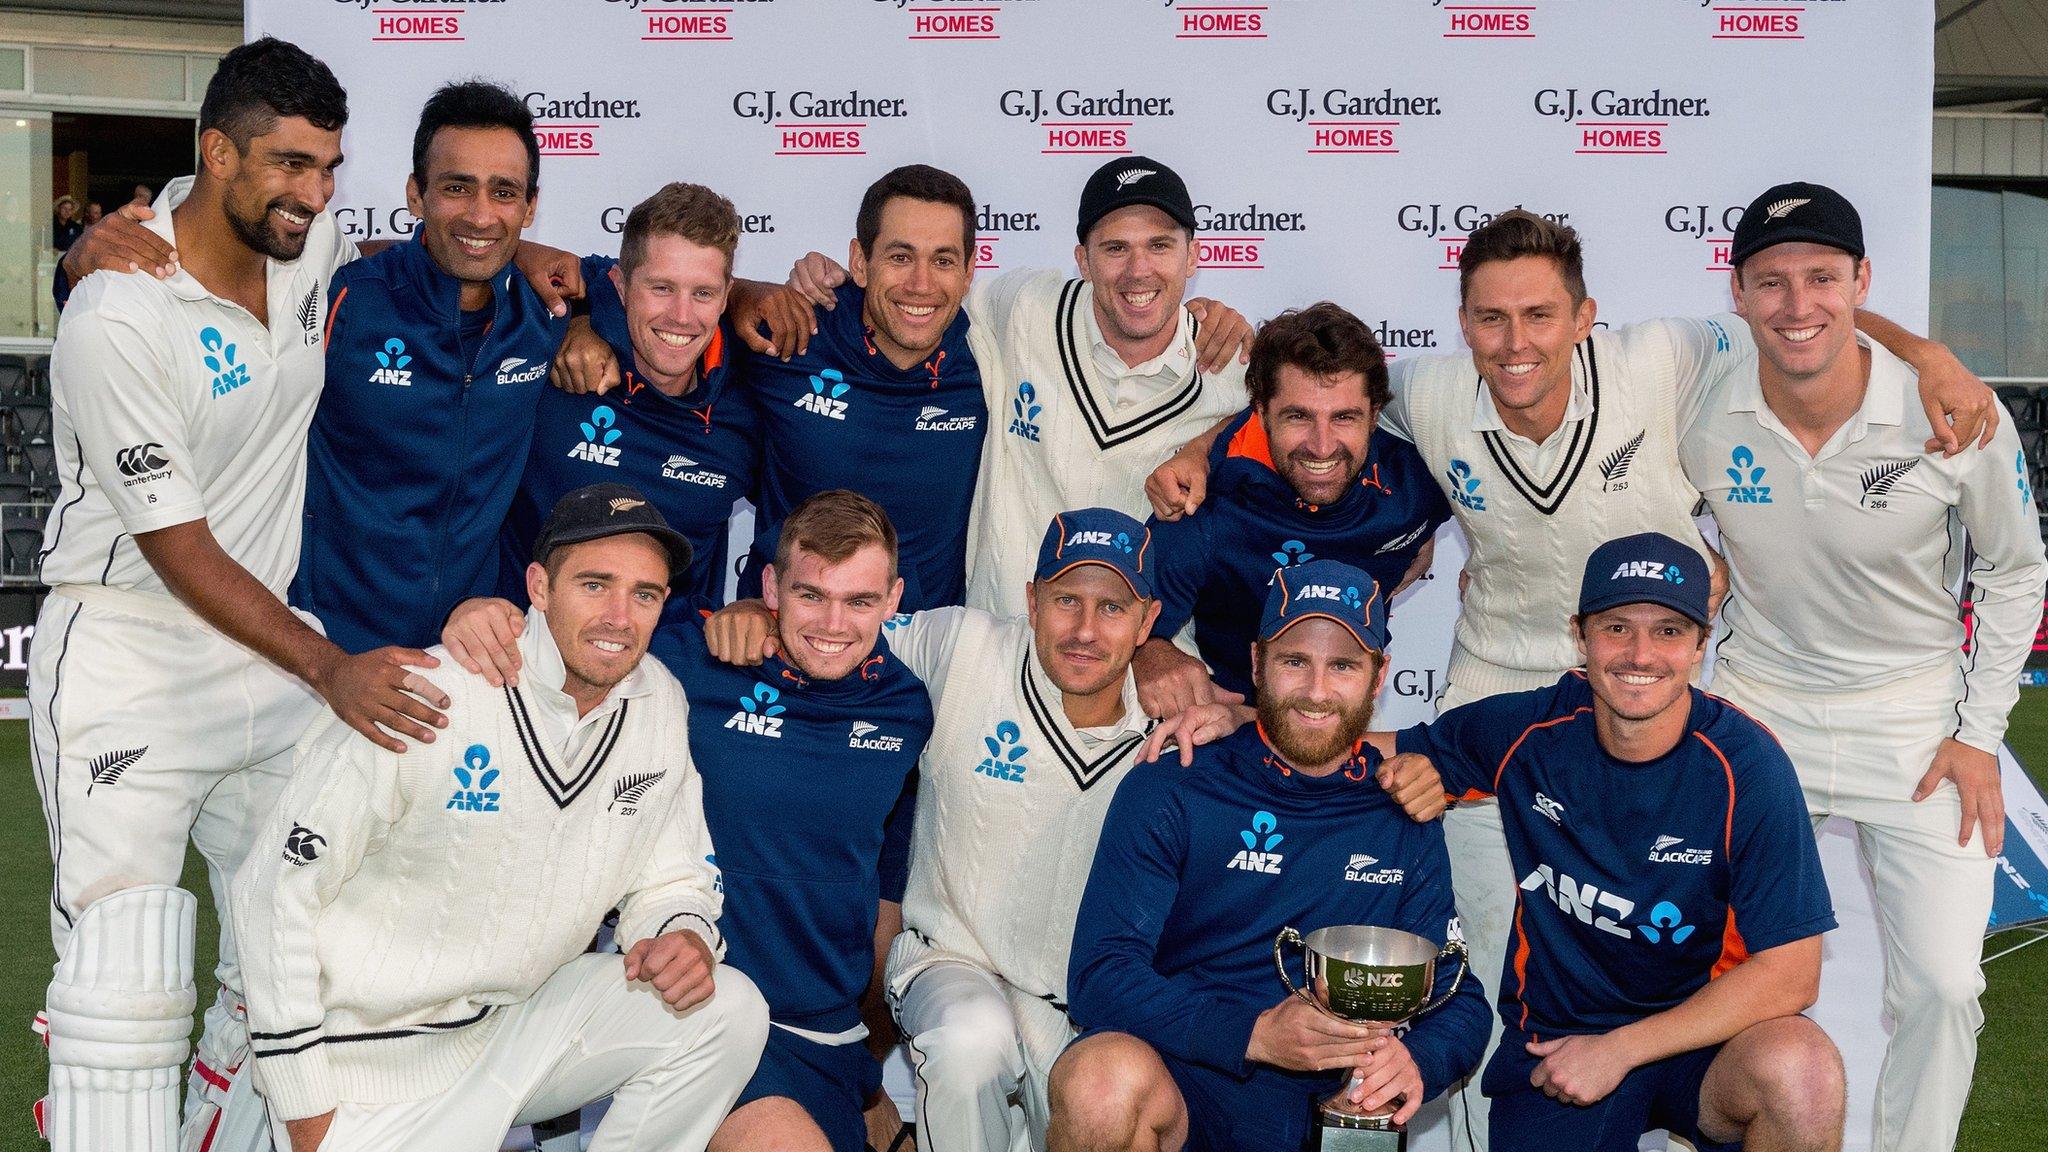
[[[1118,379],[1096,355],[1096,289],[1059,273],[995,277],[967,297],[969,346],[981,365],[989,437],[967,535],[967,603],[999,619],[1024,615],[1038,541],[1059,512],[1116,508],[1151,515],[1145,478],[1243,410],[1245,369],[1194,367],[1194,318],[1184,307],[1167,353]]]

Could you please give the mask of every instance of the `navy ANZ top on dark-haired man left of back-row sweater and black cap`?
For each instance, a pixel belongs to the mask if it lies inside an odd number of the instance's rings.
[[[745,357],[748,392],[762,420],[762,480],[754,553],[741,596],[760,594],[782,519],[807,496],[852,488],[883,506],[899,537],[903,611],[967,599],[967,517],[981,469],[989,408],[967,351],[967,312],[932,359],[899,369],[868,342],[866,293],[840,285],[840,303],[817,310],[817,336],[801,357]]]

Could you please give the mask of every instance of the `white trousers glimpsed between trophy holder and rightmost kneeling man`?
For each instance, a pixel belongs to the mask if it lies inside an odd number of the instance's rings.
[[[1466,652],[1452,660],[1456,674],[1444,687],[1438,713],[1495,697],[1544,689],[1563,676],[1487,664]],[[1516,918],[1516,869],[1507,861],[1507,836],[1501,832],[1501,806],[1493,799],[1462,801],[1444,814],[1444,851],[1450,853],[1450,892],[1458,906],[1458,929],[1470,957],[1473,976],[1487,988],[1491,1009],[1501,992],[1501,970],[1507,963],[1507,929]],[[1487,1054],[1479,1068],[1493,1060],[1501,1043],[1501,1015],[1487,1013]],[[1450,1105],[1450,1146],[1456,1152],[1487,1152],[1487,1097],[1479,1091],[1479,1072],[1446,1093]]]

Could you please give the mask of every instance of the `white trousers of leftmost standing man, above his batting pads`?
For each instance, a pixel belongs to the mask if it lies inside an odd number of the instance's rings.
[[[324,705],[168,596],[66,584],[43,601],[35,640],[29,750],[55,865],[57,955],[94,900],[176,886],[186,840],[207,861],[223,994],[207,1009],[190,1121],[201,1097],[225,1099],[248,1043],[229,879],[289,779],[293,744]]]

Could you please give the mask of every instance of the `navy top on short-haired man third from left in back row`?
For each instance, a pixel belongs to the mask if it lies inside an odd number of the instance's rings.
[[[532,453],[502,537],[498,594],[526,603],[526,564],[541,521],[586,484],[639,488],[690,541],[690,574],[672,596],[725,603],[733,502],[754,490],[760,420],[733,377],[739,338],[727,324],[696,365],[696,387],[670,398],[641,379],[627,334],[627,307],[612,287],[610,256],[584,258],[590,328],[618,357],[621,385],[604,396],[541,394]]]

